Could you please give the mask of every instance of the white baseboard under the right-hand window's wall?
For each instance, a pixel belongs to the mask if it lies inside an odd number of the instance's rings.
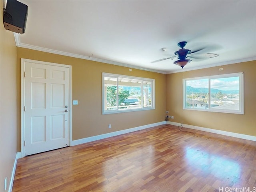
[[[171,121],[168,121],[166,123],[170,124],[170,125],[176,125],[176,126],[179,126],[181,124],[181,123],[176,123],[176,122],[171,122]],[[226,136],[230,136],[230,137],[236,137],[236,138],[256,141],[256,136],[252,136],[252,135],[245,135],[245,134],[240,134],[240,133],[210,129],[210,128],[205,128],[205,127],[198,127],[198,126],[187,125],[187,124],[182,124],[182,126],[186,127],[186,128],[190,128],[190,129],[195,129],[195,130],[200,130],[200,131],[205,131],[205,132],[210,132],[210,133],[216,133],[216,134],[220,134],[220,135],[226,135]]]

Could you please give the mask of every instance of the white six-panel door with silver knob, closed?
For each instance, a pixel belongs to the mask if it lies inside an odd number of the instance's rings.
[[[24,61],[25,155],[69,146],[69,67]]]

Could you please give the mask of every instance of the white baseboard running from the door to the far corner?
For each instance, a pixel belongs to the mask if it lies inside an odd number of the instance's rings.
[[[125,130],[120,130],[120,131],[115,131],[115,132],[106,133],[106,134],[102,134],[102,135],[96,135],[96,136],[92,136],[92,137],[82,138],[82,139],[71,141],[70,146],[84,144],[84,143],[88,143],[88,142],[91,142],[91,141],[105,139],[105,138],[109,138],[109,137],[112,137],[112,136],[117,136],[117,135],[121,135],[121,134],[125,134],[125,133],[130,133],[130,132],[143,130],[143,129],[147,129],[147,128],[158,126],[158,125],[164,125],[164,124],[166,124],[166,121],[153,123],[153,124],[148,124],[148,125],[143,125],[143,126],[134,127],[134,128],[125,129]]]

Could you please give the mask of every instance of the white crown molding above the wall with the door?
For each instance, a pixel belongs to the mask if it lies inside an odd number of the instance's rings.
[[[85,59],[85,60],[91,60],[91,61],[96,61],[96,62],[101,62],[101,63],[107,63],[107,64],[112,64],[112,65],[118,65],[118,66],[138,69],[138,70],[149,71],[149,72],[166,74],[166,72],[164,72],[164,71],[153,70],[153,69],[134,66],[131,64],[124,64],[121,62],[104,60],[104,59],[99,59],[99,58],[94,58],[94,57],[88,57],[88,56],[84,56],[84,55],[78,55],[78,54],[73,54],[73,53],[68,53],[68,52],[63,52],[63,51],[58,51],[58,50],[53,50],[53,49],[48,49],[48,48],[43,48],[43,47],[20,43],[20,36],[17,33],[14,33],[14,39],[15,39],[15,43],[16,43],[17,47],[22,47],[22,48],[27,48],[27,49],[32,49],[32,50],[37,50],[37,51],[42,51],[42,52],[48,52],[48,53],[53,53],[53,54],[58,54],[58,55],[63,55],[63,56],[69,56],[69,57],[74,57],[74,58],[80,58],[80,59]]]

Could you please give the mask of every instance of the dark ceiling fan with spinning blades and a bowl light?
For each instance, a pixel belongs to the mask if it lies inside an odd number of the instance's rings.
[[[194,59],[205,59],[205,58],[212,58],[212,57],[217,57],[218,56],[217,54],[213,54],[213,53],[194,54],[196,52],[199,52],[199,51],[203,50],[204,48],[200,48],[198,50],[194,50],[194,51],[191,52],[191,50],[184,48],[186,46],[186,44],[187,44],[186,41],[182,41],[182,42],[178,43],[178,46],[180,47],[180,50],[174,52],[174,54],[176,56],[159,59],[159,60],[153,61],[152,63],[163,61],[163,60],[166,60],[166,59],[172,59],[173,60],[174,58],[178,58],[177,61],[174,61],[174,64],[183,68],[186,64],[188,64],[189,62],[192,61],[190,59],[187,59],[188,57],[189,58],[194,58]],[[163,50],[166,51],[166,48],[163,48]]]

